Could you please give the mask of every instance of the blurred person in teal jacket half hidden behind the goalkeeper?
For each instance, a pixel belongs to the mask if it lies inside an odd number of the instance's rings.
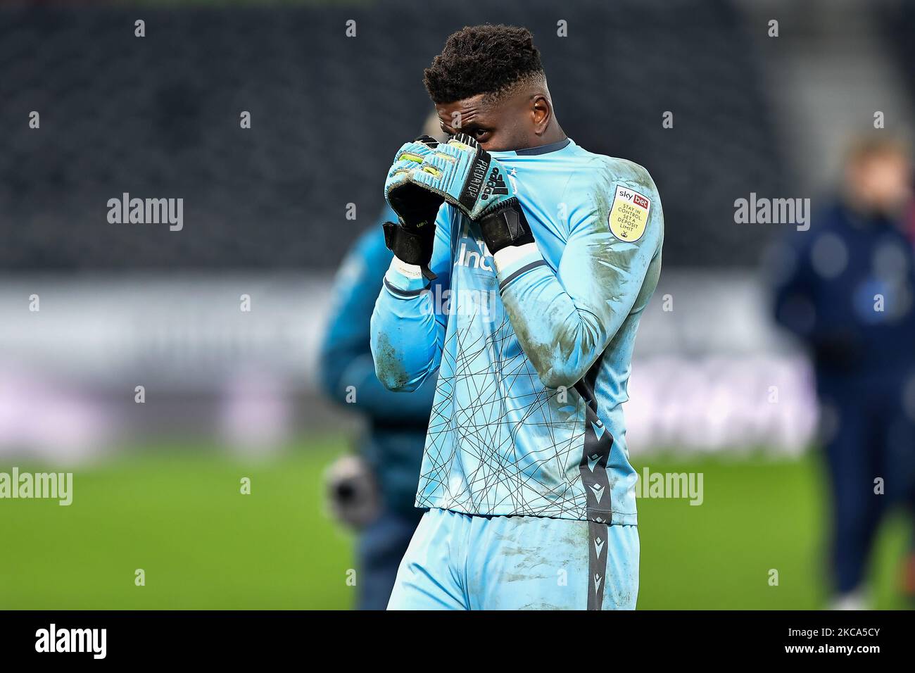
[[[447,140],[435,114],[426,119],[423,133]],[[431,379],[409,395],[392,393],[378,381],[371,358],[371,311],[393,259],[384,244],[382,223],[396,220],[385,203],[378,222],[361,234],[346,255],[334,282],[320,352],[324,392],[367,421],[355,451],[328,471],[331,510],[359,531],[360,610],[387,607],[397,567],[425,511],[417,509],[414,501],[436,392]]]

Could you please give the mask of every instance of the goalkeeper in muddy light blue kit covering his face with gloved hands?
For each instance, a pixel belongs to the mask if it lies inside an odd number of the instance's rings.
[[[385,386],[440,369],[415,503],[429,511],[389,608],[634,608],[621,405],[661,271],[657,190],[565,136],[524,28],[459,30],[425,85],[453,137],[397,152],[371,319]]]

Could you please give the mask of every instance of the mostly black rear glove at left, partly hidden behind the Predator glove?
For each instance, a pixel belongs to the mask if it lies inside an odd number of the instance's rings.
[[[399,221],[382,224],[384,244],[402,262],[419,266],[429,280],[436,279],[429,262],[436,240],[436,215],[443,199],[415,185],[409,177],[436,147],[438,141],[430,136],[419,136],[412,143],[405,143],[397,150],[384,182],[384,198]]]

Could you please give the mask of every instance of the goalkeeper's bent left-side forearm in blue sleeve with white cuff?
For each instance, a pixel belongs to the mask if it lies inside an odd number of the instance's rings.
[[[375,374],[388,390],[415,390],[440,362],[444,327],[426,286],[418,271],[396,259],[384,276],[371,314],[371,354]]]

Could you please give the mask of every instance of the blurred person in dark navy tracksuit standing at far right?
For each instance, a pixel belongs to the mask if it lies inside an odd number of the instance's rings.
[[[832,490],[835,608],[867,607],[867,559],[888,505],[915,506],[915,258],[910,157],[858,140],[840,193],[792,232],[776,319],[810,349]],[[904,591],[915,595],[915,546]]]

